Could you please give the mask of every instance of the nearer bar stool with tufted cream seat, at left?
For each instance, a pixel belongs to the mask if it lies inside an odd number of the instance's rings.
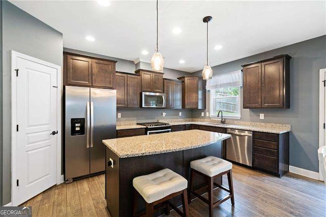
[[[162,202],[167,204],[167,214],[169,214],[170,205],[181,216],[188,216],[188,181],[172,170],[164,169],[152,174],[136,177],[132,180],[132,185],[135,189],[133,216],[137,215],[137,193],[146,201],[147,216],[153,216],[156,211],[154,211],[154,206]],[[182,198],[183,212],[169,202],[171,198],[178,195],[181,195]]]

